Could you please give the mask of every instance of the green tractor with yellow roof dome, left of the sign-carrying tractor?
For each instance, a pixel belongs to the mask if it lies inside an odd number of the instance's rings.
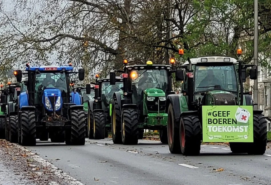
[[[127,63],[127,62],[124,62]],[[139,131],[160,130],[160,140],[167,142],[166,97],[174,94],[171,87],[171,66],[124,66],[123,92],[115,92],[112,102],[112,138],[114,143],[137,144]],[[115,72],[110,83],[115,84]]]

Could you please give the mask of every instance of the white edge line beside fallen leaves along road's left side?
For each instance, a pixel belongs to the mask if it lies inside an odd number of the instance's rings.
[[[62,170],[55,167],[53,164],[49,163],[48,161],[41,158],[40,156],[35,155],[30,150],[27,150],[24,147],[22,147],[20,145],[17,145],[17,144],[15,144],[15,146],[18,147],[19,149],[23,150],[23,151],[28,152],[30,154],[29,157],[31,157],[33,160],[37,161],[39,164],[41,164],[41,166],[47,168],[51,173],[55,174],[55,176],[57,176],[59,178],[59,180],[61,180],[62,182],[63,181],[66,182],[65,184],[84,185],[79,180],[76,180],[72,176],[69,176],[68,174],[64,173]],[[57,185],[57,184],[55,184],[55,185]]]

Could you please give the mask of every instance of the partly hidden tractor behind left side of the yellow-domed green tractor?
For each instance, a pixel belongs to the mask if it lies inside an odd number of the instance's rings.
[[[89,139],[104,139],[111,131],[111,102],[114,92],[122,92],[123,78],[115,78],[115,85],[110,85],[110,79],[98,79],[96,75],[94,100],[88,102],[88,137]],[[87,93],[90,93],[87,84]]]

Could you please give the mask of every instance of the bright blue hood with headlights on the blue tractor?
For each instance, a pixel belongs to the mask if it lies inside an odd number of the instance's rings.
[[[46,88],[43,91],[42,103],[47,111],[59,111],[62,105],[61,91],[57,88]]]

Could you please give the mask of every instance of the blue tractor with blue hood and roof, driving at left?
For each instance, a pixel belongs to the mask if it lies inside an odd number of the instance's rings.
[[[36,145],[36,139],[85,145],[85,112],[82,97],[73,91],[70,74],[78,73],[84,80],[85,71],[73,72],[69,66],[30,66],[26,72],[17,70],[16,79],[27,74],[26,90],[18,97],[18,142]]]

